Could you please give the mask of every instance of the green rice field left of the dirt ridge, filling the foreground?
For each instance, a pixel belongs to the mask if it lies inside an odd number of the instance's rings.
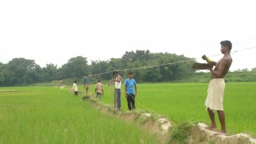
[[[58,87],[0,90],[0,144],[157,144],[137,125],[103,114]]]

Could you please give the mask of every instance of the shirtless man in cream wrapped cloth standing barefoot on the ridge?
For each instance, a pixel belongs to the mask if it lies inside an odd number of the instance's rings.
[[[221,45],[221,53],[224,54],[223,58],[221,58],[218,62],[214,62],[203,55],[202,58],[215,66],[214,70],[210,67],[206,67],[211,72],[211,80],[209,83],[209,87],[207,90],[207,98],[206,98],[206,108],[208,114],[210,116],[211,125],[207,126],[207,130],[215,130],[217,131],[218,128],[215,123],[215,113],[216,110],[218,112],[219,121],[221,125],[221,130],[214,135],[223,135],[226,133],[226,125],[225,125],[225,115],[223,111],[223,99],[224,99],[224,76],[229,71],[229,67],[232,63],[232,58],[230,55],[230,51],[232,49],[232,43],[229,40],[224,40],[220,42]]]

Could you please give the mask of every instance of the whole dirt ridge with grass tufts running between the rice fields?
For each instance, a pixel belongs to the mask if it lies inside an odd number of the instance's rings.
[[[215,131],[206,130],[204,123],[186,121],[174,125],[164,116],[146,110],[115,111],[113,106],[101,103],[90,95],[83,96],[82,100],[88,100],[94,108],[101,112],[136,123],[149,131],[151,135],[156,135],[162,144],[256,144],[256,139],[247,134],[214,136]]]

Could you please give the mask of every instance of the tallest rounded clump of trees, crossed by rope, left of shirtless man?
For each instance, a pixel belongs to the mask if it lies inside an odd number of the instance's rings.
[[[121,68],[130,69],[136,67],[147,67],[158,64],[167,64],[159,67],[149,67],[145,69],[133,70],[136,73],[137,81],[170,81],[178,79],[182,73],[192,73],[192,64],[194,60],[184,63],[175,63],[178,61],[189,60],[183,55],[169,53],[150,53],[149,50],[137,50],[136,52],[126,52],[121,58]],[[111,62],[111,60],[110,60]],[[124,74],[126,75],[127,72]]]

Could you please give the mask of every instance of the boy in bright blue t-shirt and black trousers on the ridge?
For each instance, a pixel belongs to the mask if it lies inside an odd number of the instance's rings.
[[[134,73],[129,72],[129,77],[124,81],[125,97],[127,99],[129,110],[135,109],[135,97],[137,96],[137,84],[133,79]],[[135,88],[135,93],[134,93]],[[132,103],[132,107],[131,107]]]

